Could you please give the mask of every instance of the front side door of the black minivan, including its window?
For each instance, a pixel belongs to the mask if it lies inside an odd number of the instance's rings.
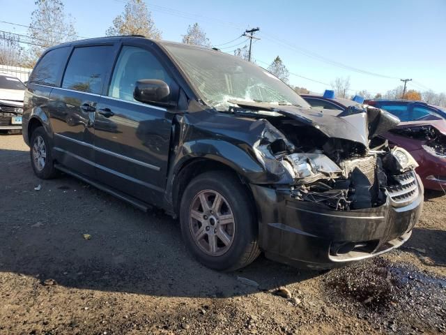
[[[134,84],[141,79],[173,82],[150,48],[123,45],[95,112],[95,175],[135,198],[161,204],[176,107],[135,101]]]

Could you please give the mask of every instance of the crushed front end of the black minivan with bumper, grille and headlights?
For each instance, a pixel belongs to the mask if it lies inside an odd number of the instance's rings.
[[[352,140],[357,134],[335,137],[333,128],[329,136],[323,124],[309,126],[291,112],[268,118],[274,128],[266,129],[254,151],[272,173],[282,167],[282,181],[291,182],[250,185],[261,204],[260,246],[267,258],[324,269],[407,241],[424,191],[408,151],[390,149],[376,137],[398,122],[384,113],[364,109],[346,115],[346,123],[332,119],[339,134],[346,124],[362,129],[362,141]]]

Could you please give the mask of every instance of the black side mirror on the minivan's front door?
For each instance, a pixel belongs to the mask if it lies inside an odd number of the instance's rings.
[[[170,95],[169,85],[156,79],[138,80],[133,91],[136,101],[155,105],[173,105]]]

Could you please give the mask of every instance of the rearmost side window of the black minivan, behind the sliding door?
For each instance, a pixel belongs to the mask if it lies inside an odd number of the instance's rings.
[[[59,47],[47,52],[34,68],[29,82],[49,86],[59,85],[69,50],[70,47]]]

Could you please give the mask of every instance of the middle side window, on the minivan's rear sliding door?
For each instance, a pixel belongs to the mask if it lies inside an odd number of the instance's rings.
[[[75,48],[68,61],[62,87],[101,94],[112,48],[112,45]]]

